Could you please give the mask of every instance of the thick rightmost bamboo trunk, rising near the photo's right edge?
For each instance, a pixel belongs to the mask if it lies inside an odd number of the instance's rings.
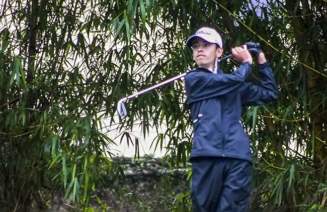
[[[293,16],[292,24],[294,28],[294,36],[298,46],[299,61],[304,64],[302,68],[306,74],[306,86],[307,86],[307,98],[310,102],[310,131],[311,131],[311,146],[313,151],[313,163],[315,168],[322,167],[322,162],[327,157],[327,146],[322,142],[323,138],[323,120],[321,114],[321,104],[319,98],[319,91],[323,89],[320,82],[321,75],[314,72],[309,67],[314,67],[312,57],[314,57],[314,50],[310,48],[314,46],[311,39],[309,27],[312,27],[314,22],[309,18],[310,10],[307,1],[302,1],[302,9],[300,8],[300,2],[295,0],[286,1],[286,9],[289,14]],[[304,18],[302,18],[305,17]],[[307,27],[308,26],[308,27]],[[308,144],[310,145],[310,142]],[[311,147],[307,147],[311,148]]]

